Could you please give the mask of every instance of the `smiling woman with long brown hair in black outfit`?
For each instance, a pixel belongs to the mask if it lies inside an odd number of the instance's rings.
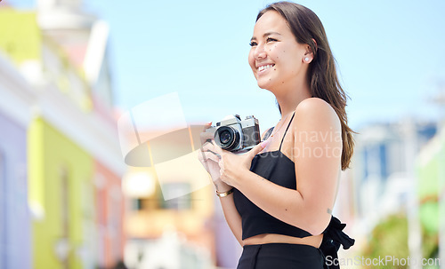
[[[281,120],[247,154],[206,142],[200,161],[243,246],[239,269],[326,268],[353,244],[331,216],[353,140],[327,36],[311,10],[279,2],[259,12],[251,46],[249,65]]]

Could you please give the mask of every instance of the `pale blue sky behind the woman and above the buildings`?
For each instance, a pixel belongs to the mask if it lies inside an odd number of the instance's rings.
[[[8,0],[4,0],[8,2]],[[33,1],[12,0],[31,7]],[[217,122],[255,115],[262,130],[279,120],[275,99],[247,64],[259,10],[271,1],[84,1],[109,22],[116,103],[128,109],[177,91],[186,119]],[[437,119],[428,99],[445,82],[445,2],[299,1],[328,34],[350,96],[352,128],[412,115]]]

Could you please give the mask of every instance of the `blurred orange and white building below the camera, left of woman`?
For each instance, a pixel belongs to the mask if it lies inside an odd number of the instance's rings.
[[[214,268],[214,192],[210,181],[198,190],[194,186],[199,177],[210,179],[202,167],[178,162],[184,160],[164,162],[168,169],[162,178],[153,167],[132,167],[125,175],[125,194],[131,197],[125,218],[130,268]]]

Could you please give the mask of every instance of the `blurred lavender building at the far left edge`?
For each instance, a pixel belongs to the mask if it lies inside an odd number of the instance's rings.
[[[0,268],[31,268],[27,130],[34,92],[0,51]]]

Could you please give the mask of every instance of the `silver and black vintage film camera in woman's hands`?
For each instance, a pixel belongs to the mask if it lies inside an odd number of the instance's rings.
[[[258,120],[253,115],[248,115],[244,121],[239,115],[226,116],[206,131],[214,132],[214,142],[233,153],[245,152],[261,142]]]

